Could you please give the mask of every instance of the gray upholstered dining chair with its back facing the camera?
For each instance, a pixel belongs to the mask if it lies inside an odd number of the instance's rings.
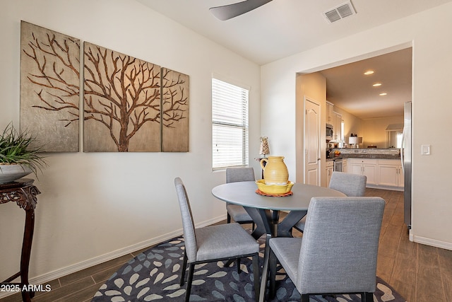
[[[373,302],[385,202],[381,197],[313,197],[302,238],[271,238],[270,296],[277,261],[302,295],[361,294]]]

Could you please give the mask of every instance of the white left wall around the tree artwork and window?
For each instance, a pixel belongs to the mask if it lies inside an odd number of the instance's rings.
[[[225,219],[210,190],[211,77],[251,87],[250,158],[260,173],[260,69],[206,38],[130,0],[1,1],[0,129],[19,124],[20,21],[93,42],[190,76],[188,153],[50,153],[35,182],[32,281],[81,269],[182,233],[174,177],[184,180],[194,218]],[[24,223],[16,204],[0,205],[0,279],[18,271]]]

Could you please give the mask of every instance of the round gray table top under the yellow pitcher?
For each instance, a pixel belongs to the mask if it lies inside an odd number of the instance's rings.
[[[342,192],[329,189],[328,187],[304,185],[302,183],[295,183],[292,187],[292,196],[287,197],[262,196],[256,194],[256,190],[256,182],[230,182],[214,187],[212,194],[218,199],[232,204],[283,211],[307,210],[312,197],[345,196]]]

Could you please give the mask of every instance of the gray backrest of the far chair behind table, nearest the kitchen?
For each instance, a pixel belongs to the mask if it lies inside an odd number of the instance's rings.
[[[330,189],[343,192],[348,197],[364,196],[366,191],[366,175],[333,172],[330,180]]]

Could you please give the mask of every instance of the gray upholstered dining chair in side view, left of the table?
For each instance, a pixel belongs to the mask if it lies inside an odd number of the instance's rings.
[[[256,301],[258,301],[260,289],[258,242],[239,223],[195,228],[185,185],[180,178],[175,178],[174,186],[176,187],[177,199],[179,200],[185,241],[184,260],[181,268],[181,286],[184,285],[187,262],[189,264],[185,301],[190,299],[195,265],[237,259],[237,269],[240,272],[239,259],[243,257],[253,257],[254,294]]]

